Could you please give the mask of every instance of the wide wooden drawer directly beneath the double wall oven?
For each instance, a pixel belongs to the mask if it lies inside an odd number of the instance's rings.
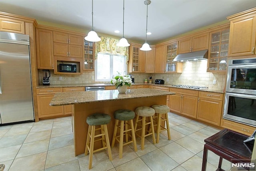
[[[220,126],[224,127],[224,128],[231,129],[233,131],[237,131],[239,133],[246,134],[246,135],[252,135],[252,133],[256,129],[256,127],[244,125],[242,123],[237,123],[237,122],[230,121],[227,119],[222,119]]]

